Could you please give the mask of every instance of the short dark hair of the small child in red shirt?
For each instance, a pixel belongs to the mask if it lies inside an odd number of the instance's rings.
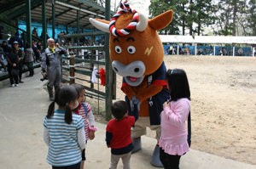
[[[112,115],[116,120],[122,120],[124,115],[127,113],[127,109],[126,102],[122,100],[114,102],[111,106]]]

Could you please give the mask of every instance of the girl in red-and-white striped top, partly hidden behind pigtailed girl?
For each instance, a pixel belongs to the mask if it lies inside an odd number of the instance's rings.
[[[84,95],[84,88],[78,84],[73,84],[73,87],[77,89],[79,92],[79,106],[75,109],[74,114],[81,115],[84,119],[84,134],[85,134],[85,141],[92,140],[95,138],[94,132],[96,132],[95,120],[92,114],[92,110],[90,104],[84,103],[85,102],[85,95]],[[88,121],[89,122],[88,122]],[[81,161],[81,169],[84,168],[84,161],[85,161],[85,149],[82,152],[82,161]]]

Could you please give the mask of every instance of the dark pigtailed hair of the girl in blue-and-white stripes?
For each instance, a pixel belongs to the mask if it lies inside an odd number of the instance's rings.
[[[55,91],[55,101],[49,104],[48,113],[46,115],[47,118],[50,118],[54,115],[55,111],[55,103],[60,107],[65,107],[65,122],[67,124],[71,124],[72,119],[72,110],[69,107],[70,102],[74,102],[78,98],[78,91],[72,86],[62,86],[57,87],[57,91]]]

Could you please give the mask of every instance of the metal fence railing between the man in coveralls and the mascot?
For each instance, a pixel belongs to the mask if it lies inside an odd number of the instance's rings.
[[[96,74],[96,83],[91,82],[91,76],[94,66],[97,70],[100,70],[100,66],[104,67],[107,75],[107,68],[105,62],[104,46],[83,46],[83,47],[65,47],[69,51],[67,56],[61,56],[61,75],[62,82],[68,82],[69,84],[78,83],[85,89],[85,94],[90,95],[98,100],[104,100],[107,106],[107,100],[109,99],[108,93],[99,90],[101,76]],[[88,50],[86,56],[85,54],[79,55],[77,50]],[[102,51],[102,52],[98,52]],[[115,77],[115,76],[114,76]],[[106,76],[107,79],[107,76]],[[79,83],[77,80],[79,80]],[[97,88],[95,87],[97,85]],[[106,82],[107,85],[107,82]],[[116,80],[113,78],[113,93],[111,99],[116,99]],[[112,100],[111,100],[112,101]],[[109,106],[109,105],[108,105]],[[106,120],[109,120],[109,115],[111,112],[106,110]]]

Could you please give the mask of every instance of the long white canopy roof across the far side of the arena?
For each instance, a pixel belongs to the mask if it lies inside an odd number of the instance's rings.
[[[182,36],[182,35],[160,35],[162,42],[172,43],[212,43],[212,44],[256,44],[256,37],[224,37],[224,36]]]

